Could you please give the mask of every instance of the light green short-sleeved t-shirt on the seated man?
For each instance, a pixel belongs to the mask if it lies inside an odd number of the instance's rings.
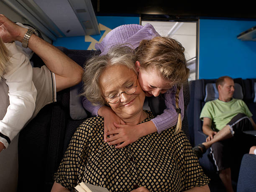
[[[252,113],[243,100],[232,99],[229,102],[213,100],[205,103],[200,114],[200,119],[210,118],[214,128],[221,130],[238,113],[244,113],[250,118]]]

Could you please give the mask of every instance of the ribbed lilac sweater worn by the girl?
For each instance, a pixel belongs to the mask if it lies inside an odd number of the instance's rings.
[[[135,49],[139,46],[139,43],[143,39],[151,39],[156,36],[160,36],[154,27],[147,23],[145,26],[137,25],[137,24],[129,24],[119,26],[112,31],[110,31],[105,38],[103,38],[100,44],[95,44],[95,48],[101,51],[101,55],[106,54],[111,46],[117,44],[125,44],[126,46],[130,46]],[[177,124],[178,114],[176,112],[175,105],[175,94],[177,87],[174,86],[169,89],[165,94],[165,105],[166,109],[164,113],[161,115],[157,115],[156,118],[151,121],[156,126],[157,132],[161,133],[161,131],[168,129]],[[101,105],[94,106],[88,101],[85,97],[82,100],[83,106],[86,110],[88,110],[92,115],[98,115],[98,110]],[[179,108],[182,110],[182,120],[184,117],[184,100],[183,100],[183,87],[179,92]]]

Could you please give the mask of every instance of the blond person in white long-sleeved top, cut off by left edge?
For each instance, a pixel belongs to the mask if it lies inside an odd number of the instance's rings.
[[[4,44],[0,38],[0,83],[8,85],[10,105],[0,118],[0,151],[7,148],[31,118],[36,103],[36,87],[28,57],[15,42]]]

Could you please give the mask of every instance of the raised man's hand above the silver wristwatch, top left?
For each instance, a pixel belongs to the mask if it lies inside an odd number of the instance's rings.
[[[0,37],[5,43],[10,43],[22,38],[26,31],[26,28],[16,25],[5,17],[5,15],[0,14]]]

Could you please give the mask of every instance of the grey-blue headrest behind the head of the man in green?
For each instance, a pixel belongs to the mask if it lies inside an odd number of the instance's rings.
[[[255,87],[255,86],[254,86]],[[216,87],[215,83],[207,83],[205,86],[205,99],[204,101],[212,101],[216,100],[219,97],[219,92]],[[235,83],[235,91],[234,91],[234,98],[236,99],[243,99],[243,90],[242,86],[238,83]]]

